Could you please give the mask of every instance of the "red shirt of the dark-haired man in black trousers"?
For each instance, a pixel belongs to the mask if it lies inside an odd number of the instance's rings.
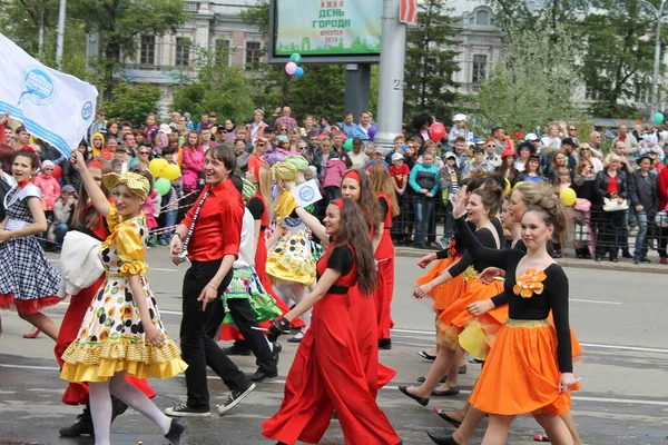
[[[213,188],[210,185],[206,186],[181,224],[190,227],[195,209],[207,190],[212,190],[212,194],[204,201],[195,222],[188,244],[188,258],[194,261],[216,261],[226,255],[237,258],[242,241],[244,200],[232,179]]]

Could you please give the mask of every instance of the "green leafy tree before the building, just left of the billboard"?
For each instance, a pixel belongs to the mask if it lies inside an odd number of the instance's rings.
[[[244,122],[253,116],[255,105],[244,69],[227,66],[226,55],[202,51],[196,79],[178,88],[171,107],[181,112],[189,111],[193,116],[216,111],[219,116]]]

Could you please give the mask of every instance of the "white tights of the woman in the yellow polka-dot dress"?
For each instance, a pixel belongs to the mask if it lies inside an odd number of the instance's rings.
[[[163,432],[167,434],[171,419],[139,389],[126,382],[126,372],[116,373],[107,382],[90,382],[90,415],[95,427],[95,445],[111,445],[111,394],[122,403],[131,406],[146,417],[150,418]]]

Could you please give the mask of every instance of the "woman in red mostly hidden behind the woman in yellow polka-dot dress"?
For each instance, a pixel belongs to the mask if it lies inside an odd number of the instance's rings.
[[[102,161],[94,160],[88,165],[88,170],[92,175],[97,185],[109,198],[109,191],[102,186],[102,175],[111,171],[109,164],[105,162],[105,165],[102,165]],[[90,202],[88,192],[86,191],[84,185],[81,185],[79,190],[79,201],[77,202],[72,219],[76,221],[72,227],[73,230],[82,231],[94,238],[99,239],[100,241],[104,241],[109,236],[109,229],[105,224],[105,218]],[[77,295],[72,295],[70,297],[70,304],[67,307],[65,316],[62,317],[60,330],[58,332],[58,339],[56,340],[56,347],[53,348],[56,359],[58,360],[60,367],[62,367],[63,364],[62,358],[60,357],[70,343],[77,339],[77,334],[79,333],[79,327],[81,326],[84,316],[90,307],[92,297],[95,297],[104,280],[105,274],[100,275],[100,277],[92,285],[81,289]],[[126,378],[131,385],[139,388],[148,397],[153,398],[156,396],[156,393],[151,389],[146,379],[136,378],[132,376],[127,376]],[[66,405],[87,405],[87,407],[84,409],[84,413],[79,416],[79,419],[75,424],[65,428],[60,428],[60,435],[63,437],[76,437],[81,434],[92,435],[92,418],[90,417],[90,409],[88,407],[88,385],[85,383],[70,383],[62,395],[62,403]],[[116,417],[127,409],[127,405],[114,397],[112,409],[112,415]]]

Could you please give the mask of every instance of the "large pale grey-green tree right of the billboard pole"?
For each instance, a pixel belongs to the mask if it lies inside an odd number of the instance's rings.
[[[557,26],[564,44],[554,47],[552,36],[532,28],[509,28],[504,60],[481,83],[479,110],[473,128],[487,134],[493,126],[524,129],[543,126],[548,119],[580,116],[573,96],[581,86],[572,41]]]

